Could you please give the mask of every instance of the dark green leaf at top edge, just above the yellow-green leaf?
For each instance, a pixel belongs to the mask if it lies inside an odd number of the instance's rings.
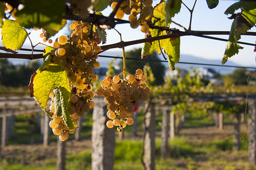
[[[166,11],[166,25],[171,23],[172,17],[180,12],[181,1],[180,0],[167,0],[165,11]]]

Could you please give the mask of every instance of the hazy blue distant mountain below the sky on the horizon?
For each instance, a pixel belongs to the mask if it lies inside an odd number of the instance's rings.
[[[122,56],[122,52],[104,52],[100,55],[104,56]],[[161,60],[162,57],[160,56]],[[111,61],[111,58],[104,58],[99,57],[99,62],[101,63],[101,66],[108,66],[108,63]],[[119,62],[119,59],[117,63]],[[211,64],[211,65],[221,65],[220,59],[205,59],[190,55],[183,55],[180,56],[180,62],[188,62],[188,63],[205,63],[205,64]],[[163,65],[168,68],[168,62],[163,62]],[[218,74],[231,74],[234,70],[236,70],[236,67],[226,67],[226,66],[241,66],[237,63],[234,63],[232,61],[229,61],[228,63],[225,63],[223,66],[207,66],[207,65],[195,65],[195,64],[187,64],[187,63],[177,63],[176,67],[179,67],[180,69],[189,70],[192,68],[199,68],[199,67],[205,67],[215,70]]]

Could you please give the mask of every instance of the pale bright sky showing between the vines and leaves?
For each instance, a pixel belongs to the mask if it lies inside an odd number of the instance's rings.
[[[155,6],[158,2],[159,1],[154,0],[153,6]],[[188,7],[192,8],[193,3],[195,1],[183,0],[183,2]],[[193,12],[192,30],[193,31],[230,31],[233,20],[228,19],[228,15],[225,15],[224,12],[226,8],[228,8],[230,5],[232,5],[235,2],[237,1],[220,0],[218,6],[210,10],[207,6],[206,0],[198,0],[195,6],[195,10]],[[105,16],[108,16],[111,11],[112,9],[108,7],[102,13]],[[179,14],[176,14],[173,20],[183,25],[185,28],[188,28],[189,17],[190,17],[189,11],[187,10],[187,8],[185,8],[184,5],[181,5],[181,10]],[[128,16],[126,15],[123,19],[128,20]],[[171,24],[170,27],[180,29],[180,31],[184,31],[183,28],[180,28],[175,24]],[[122,34],[123,41],[131,41],[131,40],[144,38],[144,33],[140,31],[139,27],[136,29],[133,29],[130,27],[129,24],[119,24],[115,27],[115,29],[117,29]],[[254,27],[250,31],[256,32],[256,28]],[[42,39],[40,39],[39,37],[40,31],[34,31],[31,29],[28,32],[31,32],[30,37],[32,39],[33,44],[36,44],[39,41],[42,42]],[[67,28],[64,28],[64,31],[61,31],[52,39],[55,40],[57,36],[63,35],[65,34],[65,32],[67,32]],[[106,44],[113,44],[113,43],[119,42],[120,37],[118,33],[114,31],[114,29],[107,30],[106,32],[107,32]],[[216,36],[216,37],[228,39],[228,36]],[[256,39],[253,36],[242,36],[240,41],[250,42],[254,44]],[[30,42],[26,40],[26,42],[24,43],[24,47],[30,48],[30,46],[31,46]],[[243,46],[244,49],[240,50],[240,52],[236,56],[229,58],[229,61],[232,61],[242,66],[256,67],[255,65],[256,53],[253,52],[254,46],[249,46],[249,45],[241,45],[241,46]],[[134,48],[141,48],[141,47],[142,47],[142,44],[137,44],[137,45],[127,46],[125,50],[128,51]],[[38,48],[42,49],[43,46],[39,45]],[[221,64],[221,59],[225,52],[225,48],[226,48],[226,42],[224,41],[204,39],[204,38],[195,37],[195,36],[183,36],[181,37],[180,54],[181,54],[181,57],[183,55],[191,55],[191,56],[205,58],[205,59],[218,59]],[[112,49],[110,51],[121,52],[121,49]],[[20,62],[22,60],[18,60],[18,61]]]

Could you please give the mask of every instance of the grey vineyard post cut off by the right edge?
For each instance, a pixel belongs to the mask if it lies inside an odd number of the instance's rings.
[[[250,165],[256,164],[256,100],[249,100],[249,146],[248,159]]]

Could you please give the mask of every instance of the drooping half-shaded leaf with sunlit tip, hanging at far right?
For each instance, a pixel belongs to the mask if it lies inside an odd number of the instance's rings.
[[[229,57],[238,54],[239,49],[243,49],[242,46],[237,44],[237,41],[241,39],[241,34],[246,33],[252,27],[241,14],[237,15],[234,19],[229,33],[228,44],[226,45],[226,50],[224,57],[222,58],[222,64],[228,61]]]

